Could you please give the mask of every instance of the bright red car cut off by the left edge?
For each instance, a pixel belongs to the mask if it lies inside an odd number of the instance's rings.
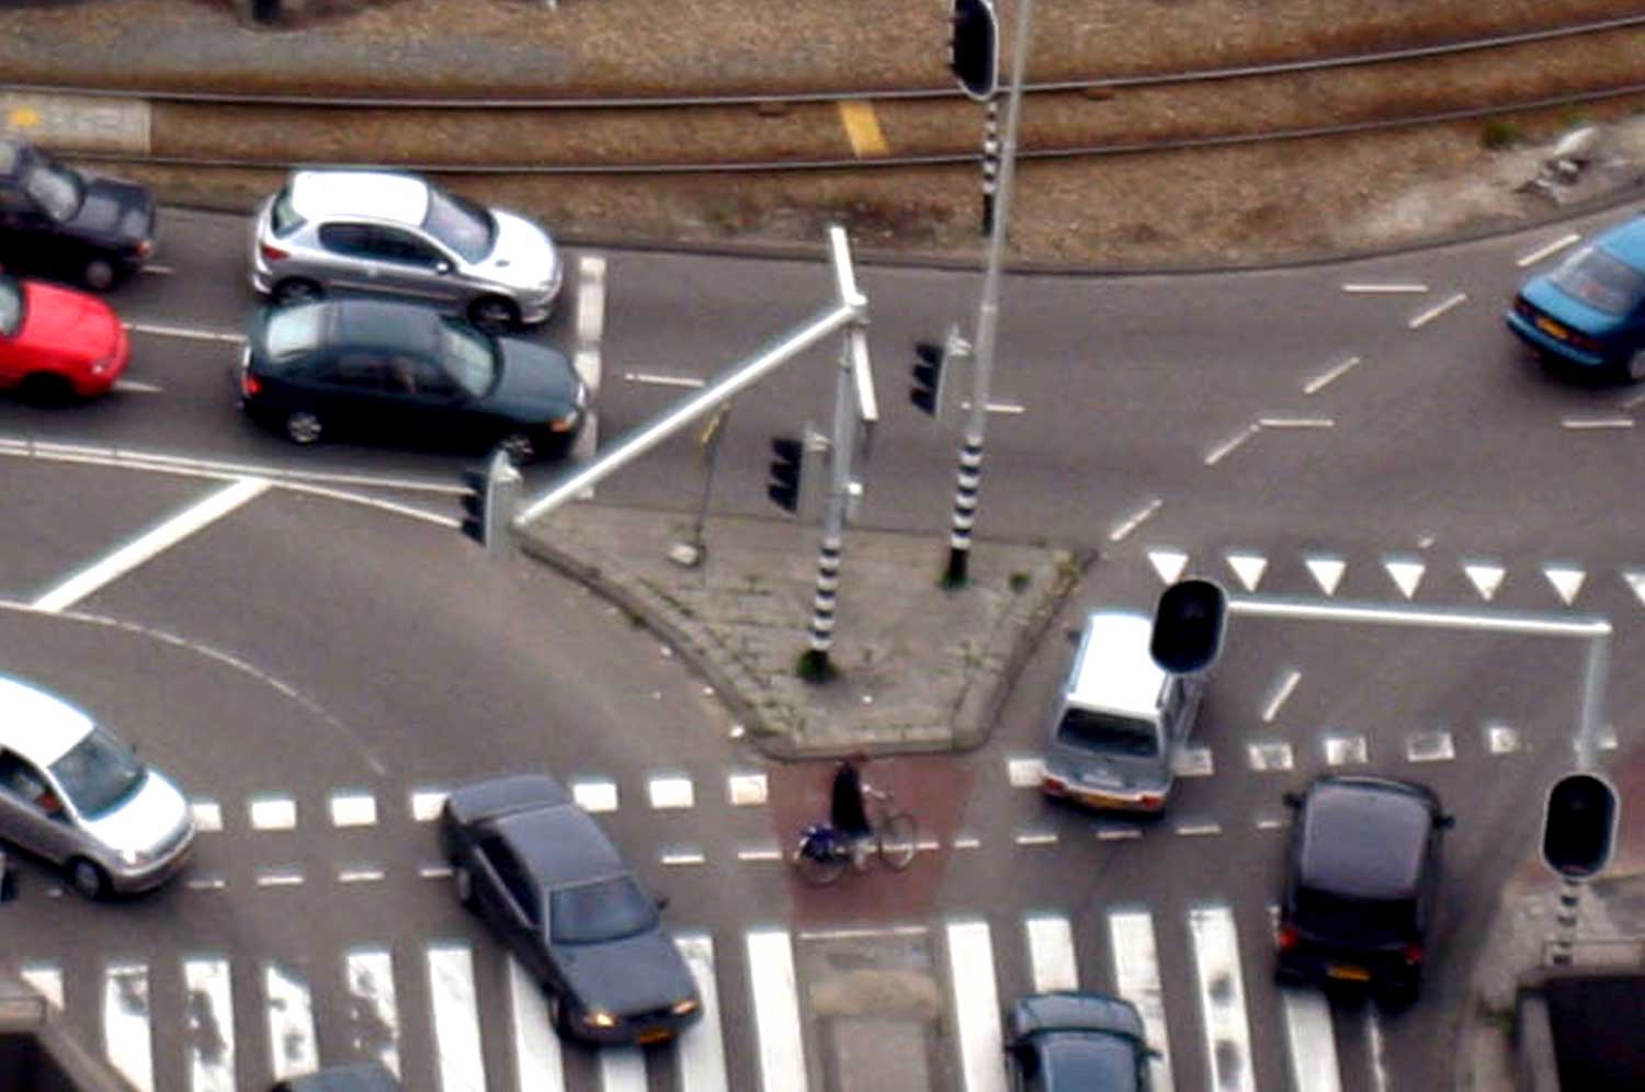
[[[92,398],[130,359],[125,326],[102,299],[0,273],[0,386],[39,401]]]

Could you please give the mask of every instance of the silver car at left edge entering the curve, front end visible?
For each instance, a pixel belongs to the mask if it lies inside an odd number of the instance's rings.
[[[87,898],[160,886],[188,860],[183,793],[61,697],[0,676],[0,837]]]

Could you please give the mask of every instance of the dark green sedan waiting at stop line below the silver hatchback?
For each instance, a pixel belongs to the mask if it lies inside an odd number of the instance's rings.
[[[429,308],[327,299],[252,319],[240,405],[293,442],[329,434],[564,454],[589,401],[564,354]]]

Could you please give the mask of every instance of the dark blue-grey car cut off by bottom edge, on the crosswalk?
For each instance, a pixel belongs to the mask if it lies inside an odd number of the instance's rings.
[[[1005,1053],[1017,1092],[1148,1092],[1137,1008],[1107,993],[1059,990],[1017,998]]]

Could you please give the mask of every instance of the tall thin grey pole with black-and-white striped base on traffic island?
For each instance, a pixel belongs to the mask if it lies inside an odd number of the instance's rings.
[[[1017,0],[1017,41],[1012,48],[1012,90],[1005,105],[1005,151],[1000,156],[1000,191],[994,201],[994,225],[989,232],[989,271],[982,278],[982,303],[977,306],[975,363],[971,370],[971,419],[966,442],[959,449],[959,472],[954,484],[954,521],[948,539],[948,571],[943,584],[961,587],[971,559],[971,528],[977,521],[977,490],[982,485],[982,434],[989,424],[989,382],[994,372],[994,340],[1000,319],[1000,261],[1005,255],[1005,230],[1012,219],[1012,183],[1017,176],[1017,122],[1023,104],[1023,69],[1028,66],[1028,18],[1033,0]]]

